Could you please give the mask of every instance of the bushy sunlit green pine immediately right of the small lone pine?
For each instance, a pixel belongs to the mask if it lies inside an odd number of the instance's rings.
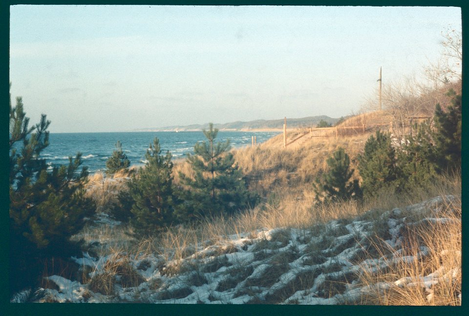
[[[358,161],[365,196],[372,197],[384,187],[398,189],[399,183],[395,180],[399,177],[399,169],[389,134],[376,131],[375,137],[370,136]]]

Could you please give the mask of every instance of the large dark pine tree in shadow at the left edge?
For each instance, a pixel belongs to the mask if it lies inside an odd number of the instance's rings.
[[[38,282],[48,257],[69,257],[77,248],[69,237],[94,211],[84,196],[88,172],[78,172],[81,154],[47,172],[41,152],[49,144],[50,121],[45,115],[28,127],[21,97],[11,105],[10,95],[10,290]],[[75,255],[75,254],[73,254]]]

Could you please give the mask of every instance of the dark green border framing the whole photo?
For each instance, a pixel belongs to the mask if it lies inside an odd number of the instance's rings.
[[[469,16],[469,1],[465,0],[0,0],[0,96],[3,106],[1,113],[3,123],[0,124],[1,147],[6,148],[8,124],[6,122],[6,102],[9,94],[9,6],[15,4],[173,4],[173,5],[348,5],[348,6],[456,6],[461,7],[463,26],[463,52],[468,48],[467,32]],[[24,21],[27,23],[27,21]],[[465,157],[468,153],[468,127],[466,115],[469,113],[468,84],[464,80],[468,76],[467,62],[463,59],[463,157],[462,157],[462,204],[463,210],[467,209],[468,194],[464,188],[468,183],[468,163]],[[16,96],[12,96],[13,98]],[[27,104],[27,100],[26,104]],[[27,109],[26,109],[27,112]],[[33,118],[32,118],[33,119]],[[413,306],[318,306],[318,305],[179,305],[179,304],[12,304],[8,295],[8,247],[9,247],[9,216],[8,216],[8,179],[7,169],[9,156],[6,149],[1,151],[0,165],[5,166],[1,171],[1,212],[0,212],[0,267],[5,272],[0,276],[1,307],[0,315],[469,315],[468,291],[468,216],[463,211],[463,282],[462,282],[462,307],[413,307]]]

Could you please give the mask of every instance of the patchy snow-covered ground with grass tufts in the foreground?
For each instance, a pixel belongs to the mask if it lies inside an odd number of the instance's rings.
[[[402,278],[374,286],[363,286],[359,276],[384,271],[399,260],[412,261],[413,257],[401,255],[403,228],[413,224],[408,215],[428,210],[438,215],[443,199],[453,198],[436,197],[384,212],[379,222],[384,226],[382,237],[388,249],[375,257],[370,257],[370,237],[377,230],[377,220],[365,213],[309,230],[275,228],[229,236],[199,247],[184,259],[168,262],[156,254],[91,257],[84,253],[72,259],[87,273],[87,283],[49,276],[57,287],[44,293],[46,301],[56,302],[342,304],[360,301],[377,288],[418,286],[425,288],[427,299],[431,299],[432,287],[442,278],[454,277],[457,269],[441,266],[421,276],[420,282]],[[98,220],[101,225],[119,225],[108,217]],[[450,219],[425,220],[445,223]],[[428,249],[421,247],[417,256],[427,253]],[[107,275],[110,266],[115,267],[114,274]],[[106,277],[111,281],[106,283]],[[100,279],[104,281],[99,283]],[[12,299],[15,301],[20,302],[21,295]]]

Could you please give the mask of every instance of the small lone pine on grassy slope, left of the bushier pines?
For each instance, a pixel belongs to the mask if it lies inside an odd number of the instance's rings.
[[[349,170],[350,158],[343,148],[334,152],[327,160],[329,170],[316,179],[314,191],[316,199],[324,203],[346,200],[349,198],[361,199],[362,190],[358,180],[349,182],[354,170]]]

